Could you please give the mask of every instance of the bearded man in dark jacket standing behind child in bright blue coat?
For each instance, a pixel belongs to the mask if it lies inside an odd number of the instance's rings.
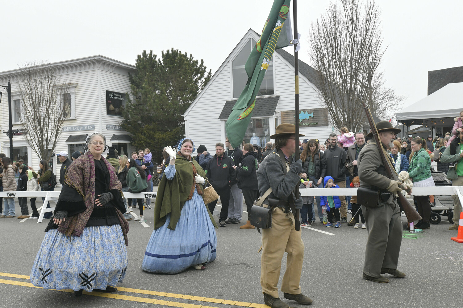
[[[346,187],[346,151],[338,147],[338,136],[331,133],[329,137],[330,148],[325,151],[326,158],[326,175],[331,175],[334,184],[339,187]],[[341,223],[347,223],[347,205],[345,196],[339,196],[341,200]]]

